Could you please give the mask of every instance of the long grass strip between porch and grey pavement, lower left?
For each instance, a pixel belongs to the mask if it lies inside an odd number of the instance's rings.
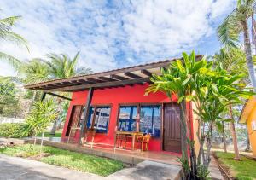
[[[89,154],[79,154],[60,148],[44,146],[40,154],[40,146],[25,144],[0,149],[0,153],[10,156],[30,158],[50,165],[59,165],[73,170],[90,172],[101,176],[108,176],[124,168],[118,160],[97,157]]]

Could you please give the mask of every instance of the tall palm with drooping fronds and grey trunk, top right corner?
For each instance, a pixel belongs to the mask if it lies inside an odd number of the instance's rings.
[[[218,26],[218,38],[227,47],[237,47],[239,35],[243,32],[246,62],[251,84],[256,88],[255,69],[253,67],[252,49],[248,32],[247,19],[254,15],[255,0],[238,0],[237,7],[228,15],[223,23]]]

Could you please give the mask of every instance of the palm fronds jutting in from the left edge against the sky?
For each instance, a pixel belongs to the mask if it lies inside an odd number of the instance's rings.
[[[15,26],[20,18],[20,16],[10,16],[0,19],[0,39],[13,42],[17,45],[24,45],[29,51],[26,39],[22,38],[19,34],[12,31],[12,27]],[[12,55],[0,52],[0,59],[13,62],[13,66],[16,66],[15,62],[17,61],[17,59]]]

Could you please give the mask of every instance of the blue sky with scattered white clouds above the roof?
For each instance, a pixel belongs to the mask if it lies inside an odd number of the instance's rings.
[[[0,40],[0,51],[21,61],[49,53],[73,57],[102,72],[220,48],[216,28],[235,0],[1,0],[0,18],[21,15],[13,31],[26,48]],[[0,75],[15,75],[0,62]]]

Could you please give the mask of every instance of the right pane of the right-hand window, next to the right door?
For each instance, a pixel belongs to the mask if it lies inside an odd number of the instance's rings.
[[[160,137],[160,105],[141,106],[139,126],[140,132]]]

